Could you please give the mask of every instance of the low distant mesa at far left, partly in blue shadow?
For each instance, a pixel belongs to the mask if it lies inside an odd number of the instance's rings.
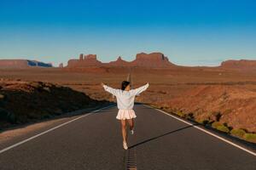
[[[28,59],[0,59],[0,68],[52,67],[50,63]]]

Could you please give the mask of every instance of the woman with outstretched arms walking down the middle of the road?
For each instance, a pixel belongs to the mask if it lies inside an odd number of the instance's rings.
[[[122,135],[123,135],[123,146],[124,146],[125,150],[128,149],[126,121],[128,122],[128,124],[130,126],[131,134],[133,134],[134,133],[133,118],[137,117],[135,112],[133,111],[135,96],[138,94],[141,94],[143,91],[145,91],[148,88],[148,86],[149,86],[149,83],[147,83],[146,85],[144,85],[140,88],[131,89],[130,82],[123,81],[122,85],[121,85],[121,89],[116,89],[116,88],[110,88],[102,82],[102,87],[108,93],[116,96],[117,106],[119,109],[119,112],[118,112],[116,118],[119,119],[121,122]]]

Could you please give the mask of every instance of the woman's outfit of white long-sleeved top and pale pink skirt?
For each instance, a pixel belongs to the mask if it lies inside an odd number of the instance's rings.
[[[125,120],[125,119],[131,119],[137,117],[135,114],[135,111],[133,110],[134,106],[134,100],[135,96],[141,94],[143,91],[145,91],[148,88],[149,84],[136,88],[131,89],[129,91],[117,89],[117,88],[111,88],[107,85],[103,85],[103,88],[110,94],[113,94],[116,96],[117,99],[117,105],[119,112],[116,116],[119,120]]]

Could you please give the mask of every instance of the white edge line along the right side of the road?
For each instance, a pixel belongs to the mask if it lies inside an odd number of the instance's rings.
[[[160,112],[166,114],[167,116],[172,116],[171,114],[167,113],[166,111],[161,111],[160,109],[156,109],[156,108],[154,108],[154,107],[151,107],[150,105],[145,105],[145,106],[147,106],[147,107],[149,107],[149,108],[153,108],[153,109],[156,110],[156,111],[160,111]],[[204,133],[210,134],[210,135],[212,135],[213,137],[224,141],[225,143],[231,144],[231,145],[235,146],[236,148],[239,148],[239,149],[241,149],[241,150],[246,151],[246,152],[249,153],[249,154],[252,154],[253,156],[256,156],[256,153],[253,152],[252,150],[247,150],[246,148],[242,147],[241,145],[234,144],[234,143],[231,142],[230,140],[224,139],[224,138],[222,138],[222,137],[220,137],[220,136],[218,136],[218,135],[216,135],[216,134],[214,134],[214,133],[211,133],[211,132],[209,132],[209,131],[207,131],[207,130],[201,128],[201,127],[197,127],[197,126],[193,125],[193,124],[190,123],[190,122],[187,122],[187,121],[184,121],[183,119],[178,118],[177,116],[172,116],[172,118],[175,118],[175,119],[177,119],[177,120],[180,121],[180,122],[184,122],[184,123],[186,123],[186,124],[188,124],[188,125],[190,125],[190,126],[192,126],[192,127],[195,127],[195,128],[197,128],[197,129],[201,130],[201,131],[204,132]]]

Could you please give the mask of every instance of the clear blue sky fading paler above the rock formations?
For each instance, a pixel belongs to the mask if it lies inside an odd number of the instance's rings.
[[[58,65],[162,52],[177,65],[256,59],[253,0],[0,0],[0,59]]]

